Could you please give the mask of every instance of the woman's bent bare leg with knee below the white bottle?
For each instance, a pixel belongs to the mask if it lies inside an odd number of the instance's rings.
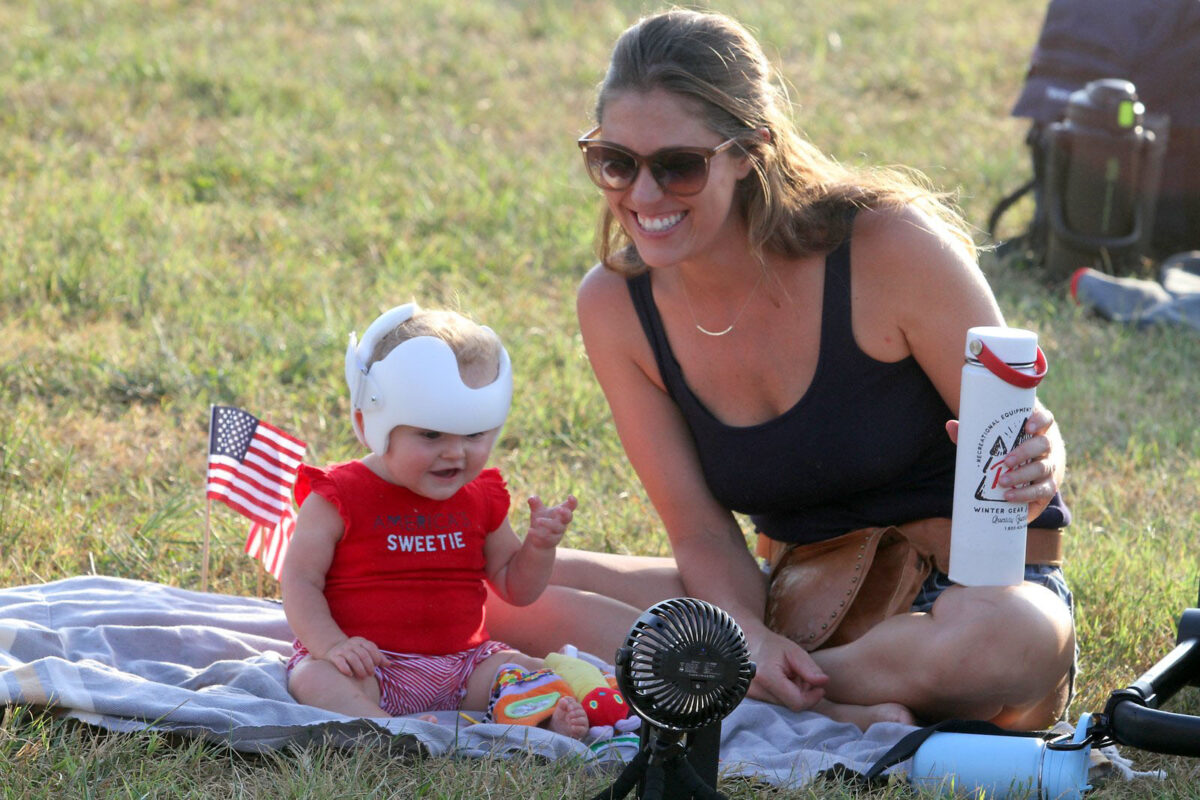
[[[928,614],[884,620],[812,654],[834,703],[900,703],[918,717],[1042,728],[1064,710],[1070,612],[1044,587],[952,587]]]

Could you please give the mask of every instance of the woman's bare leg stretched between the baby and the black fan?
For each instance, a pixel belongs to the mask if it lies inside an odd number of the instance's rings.
[[[515,607],[488,593],[487,631],[536,656],[574,644],[611,661],[643,610],[684,594],[672,559],[559,548],[534,603]]]

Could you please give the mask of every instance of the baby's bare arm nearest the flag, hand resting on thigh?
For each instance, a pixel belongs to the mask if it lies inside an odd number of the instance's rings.
[[[292,632],[314,658],[332,662],[343,674],[366,678],[382,662],[383,654],[372,642],[346,636],[325,600],[325,573],[343,529],[334,504],[319,494],[305,498],[280,577],[283,613]]]

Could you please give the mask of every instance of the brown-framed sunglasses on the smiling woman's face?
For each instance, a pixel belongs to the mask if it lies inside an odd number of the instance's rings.
[[[662,148],[648,156],[640,156],[619,144],[593,139],[599,131],[599,126],[594,127],[578,140],[580,150],[583,151],[583,166],[593,184],[614,192],[629,188],[637,180],[637,173],[646,167],[665,193],[676,197],[697,194],[708,182],[708,162],[737,144],[733,138],[712,149]]]

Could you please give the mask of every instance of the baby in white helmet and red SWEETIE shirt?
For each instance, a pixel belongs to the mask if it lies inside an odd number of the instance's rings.
[[[509,525],[504,479],[484,469],[512,399],[491,329],[398,306],[361,342],[350,335],[346,379],[371,452],[301,467],[281,582],[296,636],[288,690],[359,717],[484,711],[502,667],[544,666],[488,637],[485,582],[515,606],[536,600],[576,499],[530,498],[523,541]],[[576,739],[588,729],[570,694],[530,722]]]

